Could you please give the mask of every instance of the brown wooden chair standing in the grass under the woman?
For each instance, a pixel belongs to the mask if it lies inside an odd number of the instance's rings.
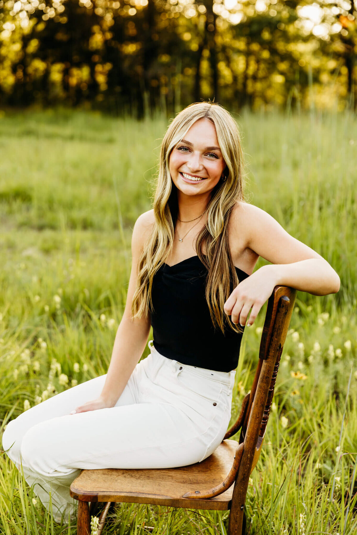
[[[82,470],[70,488],[72,498],[78,500],[78,535],[90,534],[90,515],[95,502],[106,502],[98,535],[111,502],[230,509],[228,534],[244,535],[249,476],[262,449],[296,293],[285,286],[274,288],[268,300],[252,389],[242,402],[237,422],[226,432],[215,452],[201,463],[179,468]],[[239,442],[229,440],[239,429]]]

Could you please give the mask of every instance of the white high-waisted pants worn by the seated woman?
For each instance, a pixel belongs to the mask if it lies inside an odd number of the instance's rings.
[[[55,519],[75,515],[70,485],[81,469],[180,467],[203,461],[222,442],[236,370],[188,366],[159,354],[152,340],[149,347],[114,407],[69,414],[101,394],[102,375],[7,424],[3,449],[18,469],[22,462],[47,509],[51,492]]]

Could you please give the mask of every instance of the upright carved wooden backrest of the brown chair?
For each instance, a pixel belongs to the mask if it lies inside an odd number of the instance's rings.
[[[279,369],[286,333],[290,324],[297,291],[286,286],[276,286],[267,306],[263,327],[259,363],[252,389],[246,396],[246,408],[242,415],[240,444],[243,444],[239,469],[234,485],[232,507],[244,507],[249,476],[259,458],[276,376]],[[242,510],[242,509],[241,509]]]

